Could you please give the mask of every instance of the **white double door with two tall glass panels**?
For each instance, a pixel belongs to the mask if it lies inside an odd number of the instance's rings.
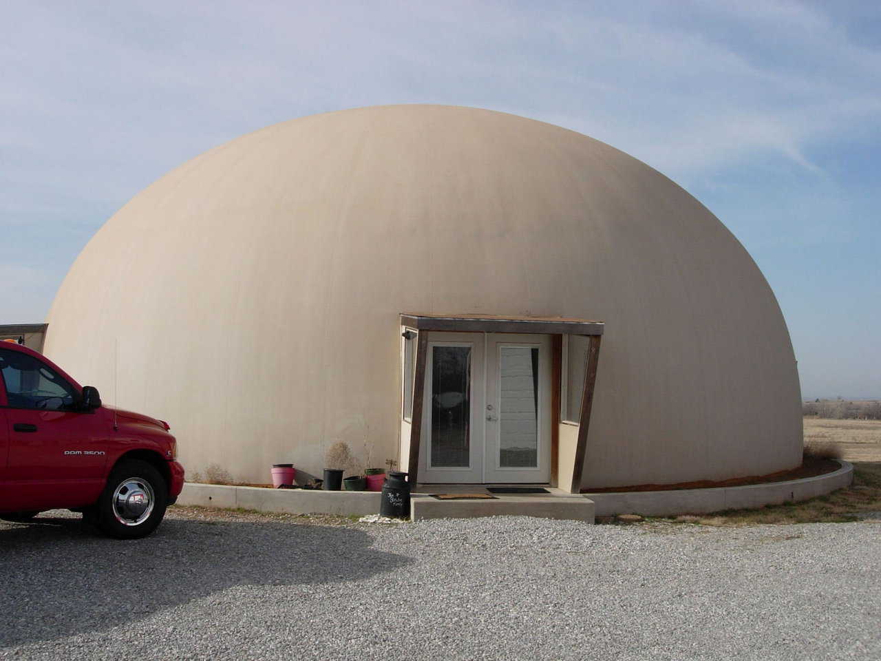
[[[550,479],[550,336],[431,332],[423,392],[419,481]]]

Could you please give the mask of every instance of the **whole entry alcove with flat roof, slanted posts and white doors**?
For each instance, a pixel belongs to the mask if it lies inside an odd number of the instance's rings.
[[[581,487],[604,323],[401,315],[411,482]]]

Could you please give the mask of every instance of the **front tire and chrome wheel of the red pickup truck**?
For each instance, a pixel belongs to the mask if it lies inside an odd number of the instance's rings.
[[[151,464],[123,460],[107,478],[96,506],[94,524],[109,537],[146,537],[165,516],[168,487]]]

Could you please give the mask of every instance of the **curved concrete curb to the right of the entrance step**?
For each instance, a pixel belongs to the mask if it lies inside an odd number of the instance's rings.
[[[710,489],[584,494],[596,505],[596,516],[636,513],[646,516],[709,514],[723,509],[753,509],[786,501],[807,501],[849,486],[854,466],[839,461],[837,471],[813,478]]]

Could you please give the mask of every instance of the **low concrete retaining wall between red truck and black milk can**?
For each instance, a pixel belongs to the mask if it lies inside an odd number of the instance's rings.
[[[256,509],[260,512],[286,514],[364,516],[380,511],[380,495],[376,491],[266,489],[259,486],[223,486],[187,482],[177,499],[177,504]]]

